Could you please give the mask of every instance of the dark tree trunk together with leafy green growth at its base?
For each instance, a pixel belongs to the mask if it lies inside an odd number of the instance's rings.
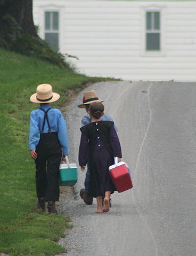
[[[36,56],[71,71],[65,57],[37,35],[32,0],[0,0],[0,47]]]

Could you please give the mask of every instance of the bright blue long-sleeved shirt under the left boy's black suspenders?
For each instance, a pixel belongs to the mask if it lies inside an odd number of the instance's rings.
[[[29,129],[29,149],[35,150],[40,139],[40,131],[42,130],[44,121],[44,111],[51,108],[49,104],[42,104],[37,110],[33,110],[30,114],[30,129]],[[68,155],[68,134],[66,121],[62,113],[57,108],[51,108],[47,112],[48,121],[50,123],[52,133],[57,133],[59,142],[62,146],[63,154]],[[48,133],[47,121],[45,121],[44,133]]]

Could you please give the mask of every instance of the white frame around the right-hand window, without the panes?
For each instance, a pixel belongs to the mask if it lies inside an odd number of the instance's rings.
[[[150,30],[146,30],[146,13],[147,12],[159,12],[160,13],[160,50],[148,51],[146,50],[146,33]],[[141,11],[141,56],[165,56],[165,6],[145,6]]]

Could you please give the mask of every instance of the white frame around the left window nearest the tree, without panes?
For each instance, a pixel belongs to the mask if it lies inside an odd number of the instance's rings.
[[[59,5],[42,5],[40,8],[40,22],[39,22],[39,36],[45,39],[45,32],[50,32],[50,30],[45,30],[45,12],[58,12],[59,13],[59,52],[63,51],[63,13],[64,6]]]

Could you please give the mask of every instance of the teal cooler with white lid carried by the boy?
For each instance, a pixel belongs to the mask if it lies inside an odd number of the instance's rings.
[[[75,185],[78,180],[78,172],[76,164],[69,164],[69,160],[66,157],[67,162],[60,164],[60,186],[72,186]]]

